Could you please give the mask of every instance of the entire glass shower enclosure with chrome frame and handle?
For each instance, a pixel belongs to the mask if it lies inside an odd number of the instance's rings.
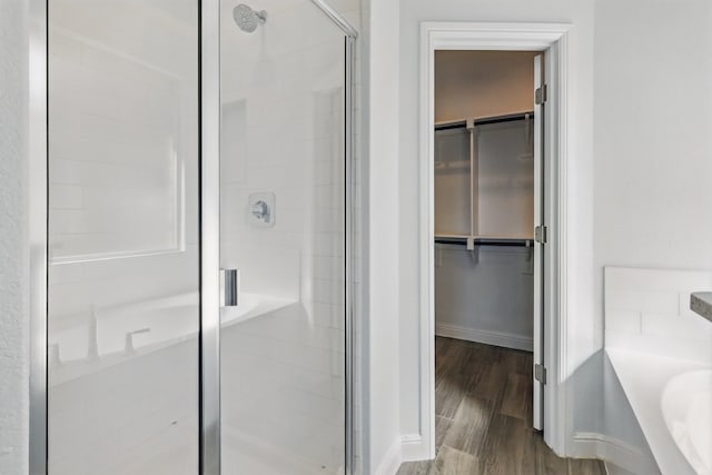
[[[355,30],[320,0],[32,11],[30,473],[353,473]]]

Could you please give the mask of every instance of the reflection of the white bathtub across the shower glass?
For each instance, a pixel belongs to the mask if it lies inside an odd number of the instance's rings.
[[[240,305],[222,308],[221,327],[258,317],[288,305],[263,294],[240,294]],[[135,304],[97,308],[61,317],[50,325],[50,386],[103,367],[196,338],[199,329],[198,294],[180,294]]]

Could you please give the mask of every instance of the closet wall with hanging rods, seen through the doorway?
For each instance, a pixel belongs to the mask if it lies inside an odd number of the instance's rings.
[[[436,52],[437,335],[532,349],[535,55]]]

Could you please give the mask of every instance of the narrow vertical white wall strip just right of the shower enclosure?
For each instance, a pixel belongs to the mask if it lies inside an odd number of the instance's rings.
[[[364,251],[366,318],[364,447],[366,473],[394,473],[400,457],[398,424],[398,2],[364,2],[364,184],[368,217]],[[415,236],[414,234],[411,236]]]

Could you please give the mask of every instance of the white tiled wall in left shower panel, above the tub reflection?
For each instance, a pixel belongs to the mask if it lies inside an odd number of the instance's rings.
[[[196,26],[178,18],[188,7],[52,7],[52,318],[194,290],[197,44]],[[98,9],[111,21],[96,18]]]

